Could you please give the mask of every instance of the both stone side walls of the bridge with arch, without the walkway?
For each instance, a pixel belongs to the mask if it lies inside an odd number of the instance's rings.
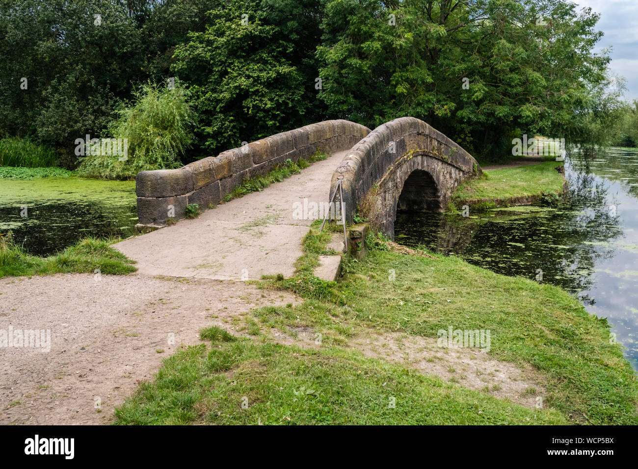
[[[414,117],[401,117],[370,131],[350,121],[323,121],[278,133],[175,170],[137,175],[140,225],[160,227],[186,217],[186,205],[217,205],[241,182],[286,160],[317,151],[347,151],[334,171],[330,190],[341,180],[346,221],[355,211],[394,237],[397,209],[443,211],[454,188],[480,175],[476,160],[441,132]]]

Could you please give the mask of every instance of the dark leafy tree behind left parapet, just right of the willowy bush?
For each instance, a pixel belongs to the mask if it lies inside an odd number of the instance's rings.
[[[193,91],[207,153],[319,117],[316,5],[228,0],[209,17],[205,32],[176,48],[172,66]]]

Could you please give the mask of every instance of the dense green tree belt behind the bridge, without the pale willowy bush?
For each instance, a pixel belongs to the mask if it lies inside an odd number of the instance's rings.
[[[327,118],[412,115],[480,160],[523,133],[611,143],[634,121],[597,21],[567,0],[0,0],[0,137],[73,167],[75,139],[173,78],[196,114],[182,163]]]

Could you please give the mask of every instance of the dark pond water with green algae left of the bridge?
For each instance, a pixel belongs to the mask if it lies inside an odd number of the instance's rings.
[[[0,233],[46,256],[88,235],[128,236],[137,223],[135,181],[0,178]]]

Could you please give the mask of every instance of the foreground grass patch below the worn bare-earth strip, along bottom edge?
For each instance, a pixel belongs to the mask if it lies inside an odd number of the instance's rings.
[[[115,416],[124,425],[566,423],[556,411],[523,408],[357,352],[251,339],[180,350]]]

